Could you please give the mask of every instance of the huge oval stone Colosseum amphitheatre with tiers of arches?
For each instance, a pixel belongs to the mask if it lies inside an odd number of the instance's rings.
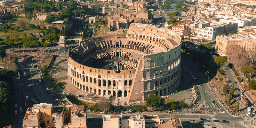
[[[68,51],[68,77],[88,93],[128,103],[167,95],[180,84],[180,35],[132,23],[125,37],[83,40]]]

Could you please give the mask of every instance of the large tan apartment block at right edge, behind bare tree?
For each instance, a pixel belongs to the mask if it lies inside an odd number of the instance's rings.
[[[256,35],[234,34],[232,36],[220,35],[216,37],[216,52],[227,56],[234,48],[242,48],[248,57],[255,56]]]

